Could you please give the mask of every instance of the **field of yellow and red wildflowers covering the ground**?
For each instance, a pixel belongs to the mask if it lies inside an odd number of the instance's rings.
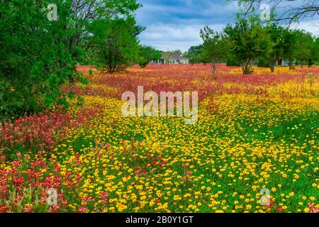
[[[319,67],[78,70],[82,106],[1,121],[0,212],[318,212]],[[123,117],[138,86],[198,92],[198,122]]]

